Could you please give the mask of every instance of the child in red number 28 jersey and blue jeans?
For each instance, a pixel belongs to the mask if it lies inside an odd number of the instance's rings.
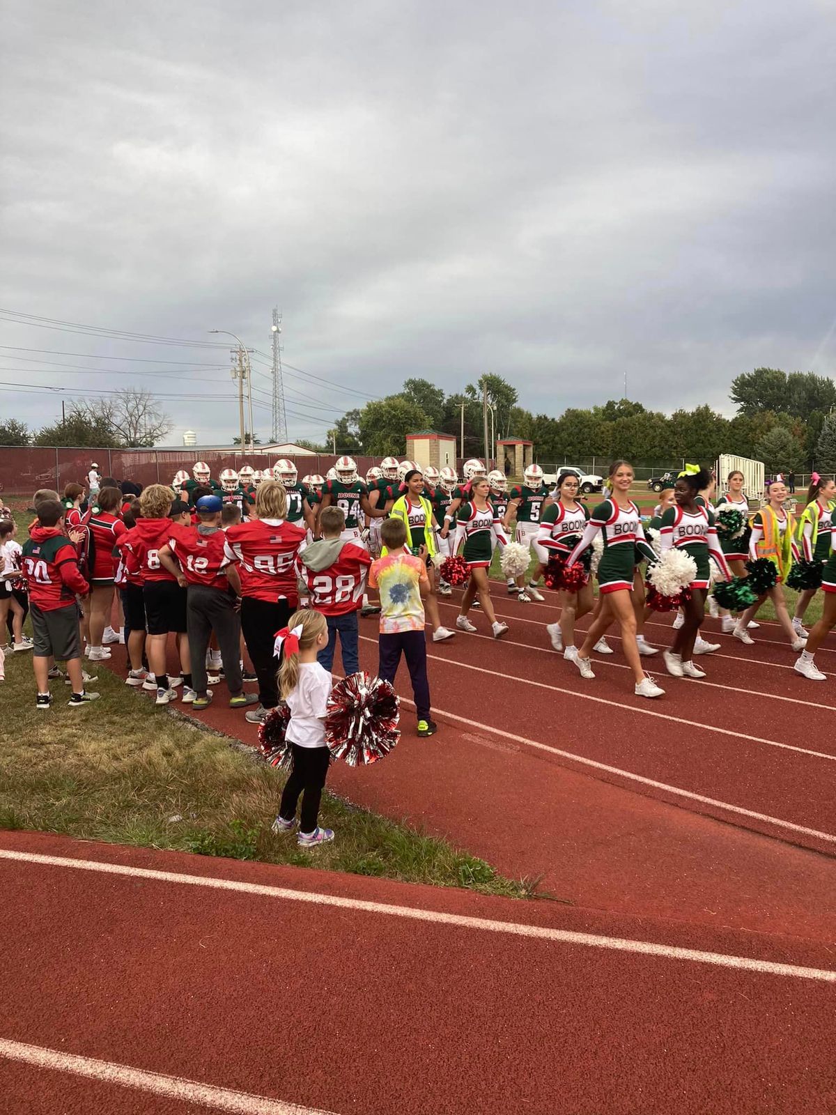
[[[324,507],[320,516],[322,539],[312,542],[301,554],[303,573],[311,593],[311,605],[322,612],[328,623],[328,646],[317,655],[325,669],[333,665],[337,632],[346,673],[360,669],[357,611],[360,608],[371,558],[364,546],[343,542],[346,516],[340,507]]]

